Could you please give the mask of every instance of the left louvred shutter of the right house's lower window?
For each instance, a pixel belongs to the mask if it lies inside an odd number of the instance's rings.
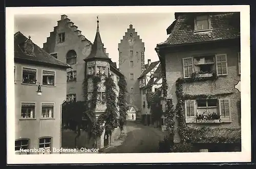
[[[185,117],[186,123],[195,122],[195,100],[185,101]]]

